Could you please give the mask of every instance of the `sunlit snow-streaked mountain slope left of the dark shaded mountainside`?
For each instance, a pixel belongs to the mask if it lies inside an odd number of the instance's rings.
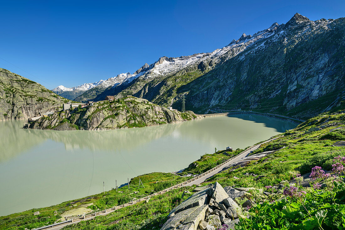
[[[253,42],[270,36],[269,31],[273,30],[275,26],[276,24],[273,24],[267,30],[259,31],[254,36],[243,35],[239,40],[210,53],[177,58],[161,57],[155,63],[143,69],[142,74],[136,76],[134,80],[131,79],[131,81],[109,86],[95,100],[102,100],[107,95],[118,95],[120,97],[133,95],[160,105],[170,105],[181,97],[177,93],[179,87],[236,56]],[[247,38],[250,38],[250,40],[245,41]]]

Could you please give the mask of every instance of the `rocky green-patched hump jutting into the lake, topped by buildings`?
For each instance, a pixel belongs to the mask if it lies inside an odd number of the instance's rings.
[[[177,123],[200,118],[191,111],[184,113],[152,104],[146,99],[128,96],[104,100],[90,106],[56,112],[30,125],[34,129],[110,130]]]

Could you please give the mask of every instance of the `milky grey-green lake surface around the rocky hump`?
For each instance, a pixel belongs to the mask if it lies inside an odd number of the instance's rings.
[[[297,124],[260,115],[109,131],[22,129],[0,122],[0,215],[97,194],[150,172],[184,169],[215,147],[245,148]]]

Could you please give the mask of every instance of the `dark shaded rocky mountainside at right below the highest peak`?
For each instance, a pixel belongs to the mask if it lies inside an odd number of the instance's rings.
[[[252,109],[311,117],[344,98],[345,18],[296,14],[179,93],[189,109]]]

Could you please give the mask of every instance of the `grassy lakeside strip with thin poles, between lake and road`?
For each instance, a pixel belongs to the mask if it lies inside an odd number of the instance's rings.
[[[172,173],[150,173],[140,176],[140,180],[144,184],[145,188],[139,185],[139,177],[132,178],[130,186],[124,186],[116,189],[95,195],[91,195],[85,198],[62,202],[58,205],[52,205],[50,207],[30,209],[24,212],[14,213],[7,216],[0,217],[0,229],[33,229],[47,224],[52,224],[59,218],[60,214],[75,208],[79,208],[82,205],[93,203],[88,208],[92,210],[104,210],[106,208],[114,207],[127,203],[131,200],[136,200],[147,196],[148,194],[155,193],[171,186],[171,184],[178,184],[182,181],[188,180],[189,177],[181,177]],[[114,186],[115,187],[115,186]],[[134,193],[138,191],[138,193]],[[175,194],[174,192],[173,194]],[[170,210],[170,209],[169,209]],[[169,211],[167,210],[167,211]],[[39,211],[39,215],[33,215],[34,212]]]

